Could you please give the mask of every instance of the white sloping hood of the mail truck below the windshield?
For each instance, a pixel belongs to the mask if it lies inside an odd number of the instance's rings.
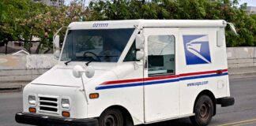
[[[134,64],[128,63],[105,67],[103,67],[103,65],[93,65],[93,68],[95,69],[95,74],[92,78],[87,78],[85,74],[82,76],[84,83],[87,83],[88,85],[122,79],[127,75],[127,73],[134,71]],[[72,71],[73,65],[55,65],[55,67],[43,73],[42,76],[39,76],[36,78],[36,80],[33,80],[32,84],[62,87],[82,87],[81,78],[75,78]]]

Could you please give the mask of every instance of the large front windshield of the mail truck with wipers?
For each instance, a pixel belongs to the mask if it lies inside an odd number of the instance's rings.
[[[61,61],[117,62],[134,28],[69,30]]]

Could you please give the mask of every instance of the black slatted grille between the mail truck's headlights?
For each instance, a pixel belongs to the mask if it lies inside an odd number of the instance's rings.
[[[40,110],[58,112],[58,98],[40,97]]]

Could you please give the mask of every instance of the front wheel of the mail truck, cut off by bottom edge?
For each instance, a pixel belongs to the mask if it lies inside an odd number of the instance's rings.
[[[123,116],[119,109],[107,109],[100,115],[100,126],[123,126]]]

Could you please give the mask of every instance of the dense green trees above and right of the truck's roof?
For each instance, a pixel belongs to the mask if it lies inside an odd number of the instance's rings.
[[[238,0],[119,0],[91,2],[88,20],[190,19],[227,20],[235,24],[239,35],[226,29],[228,46],[256,46],[256,20],[247,5]]]

